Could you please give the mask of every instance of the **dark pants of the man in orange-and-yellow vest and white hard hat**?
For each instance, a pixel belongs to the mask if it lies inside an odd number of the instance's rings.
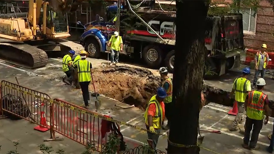
[[[260,131],[263,127],[263,120],[254,120],[246,117],[245,120],[245,137],[243,138],[243,143],[248,145],[250,148],[255,148]],[[253,130],[252,130],[253,128]],[[251,140],[250,140],[250,132],[252,130]],[[250,142],[249,142],[250,141]]]

